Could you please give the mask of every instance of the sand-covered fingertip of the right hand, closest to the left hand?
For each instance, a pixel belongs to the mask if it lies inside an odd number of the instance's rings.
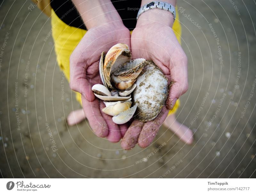
[[[121,147],[130,150],[132,149],[138,142],[138,137],[140,135],[140,131],[143,127],[144,123],[139,120],[134,120],[129,127],[129,129],[124,134],[124,138],[121,141]]]

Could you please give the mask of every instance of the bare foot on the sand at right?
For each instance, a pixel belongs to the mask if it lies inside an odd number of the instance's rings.
[[[174,114],[168,116],[163,124],[186,144],[193,143],[193,132],[186,125],[179,123]]]

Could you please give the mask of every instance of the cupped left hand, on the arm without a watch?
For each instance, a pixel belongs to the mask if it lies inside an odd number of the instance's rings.
[[[95,98],[92,86],[102,84],[99,74],[101,52],[107,53],[117,43],[126,43],[130,47],[130,36],[123,24],[96,26],[87,31],[70,56],[70,88],[82,94],[84,113],[94,133],[111,142],[118,142],[127,126],[113,123],[111,117],[101,111],[105,105]]]

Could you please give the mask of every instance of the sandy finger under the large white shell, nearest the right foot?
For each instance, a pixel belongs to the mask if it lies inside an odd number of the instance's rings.
[[[148,147],[151,144],[153,139],[156,137],[160,126],[164,123],[168,112],[169,110],[164,107],[156,119],[153,121],[148,121],[144,124],[138,139],[138,144],[140,147]]]

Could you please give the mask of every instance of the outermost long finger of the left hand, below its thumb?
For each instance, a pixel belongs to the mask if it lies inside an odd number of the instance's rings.
[[[99,101],[97,99],[88,101],[82,96],[82,103],[84,114],[92,127],[92,131],[99,137],[106,137],[108,135],[108,125],[100,114]]]

